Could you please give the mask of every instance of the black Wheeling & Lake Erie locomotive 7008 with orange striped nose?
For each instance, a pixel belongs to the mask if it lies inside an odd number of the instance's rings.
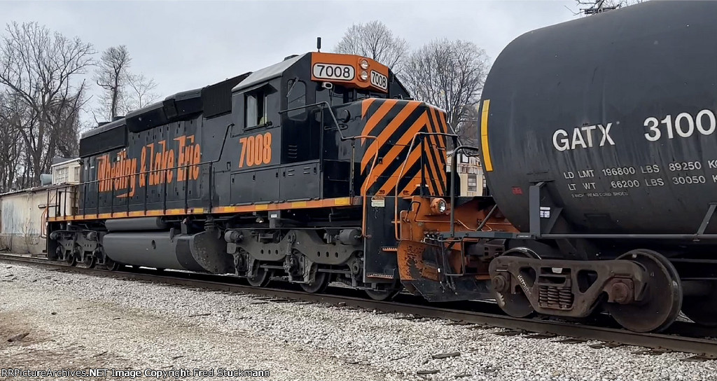
[[[50,212],[48,256],[389,298],[394,210],[418,194],[445,212],[447,136],[445,112],[379,62],[286,57],[82,134],[82,184],[53,196],[76,206]]]

